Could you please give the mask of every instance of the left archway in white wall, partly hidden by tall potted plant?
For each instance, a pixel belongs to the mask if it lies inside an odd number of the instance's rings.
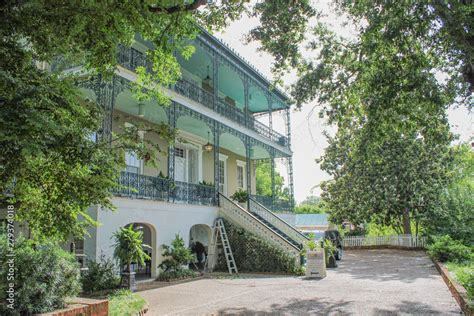
[[[142,266],[136,262],[132,263],[132,271],[136,273],[137,279],[147,279],[156,276],[156,230],[151,224],[147,223],[131,223],[125,227],[133,226],[134,230],[143,232],[143,250],[148,254],[150,259],[145,260]]]

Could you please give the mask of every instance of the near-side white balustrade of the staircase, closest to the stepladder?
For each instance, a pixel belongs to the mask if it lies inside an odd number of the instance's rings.
[[[299,264],[300,250],[276,231],[265,225],[257,217],[243,209],[240,205],[219,193],[219,206],[222,216],[245,230],[263,238],[279,249],[289,253]]]

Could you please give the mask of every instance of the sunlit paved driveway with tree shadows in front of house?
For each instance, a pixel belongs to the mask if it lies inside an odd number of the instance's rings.
[[[323,280],[294,277],[203,279],[140,292],[149,315],[459,315],[423,252],[346,251]],[[148,315],[148,314],[147,314]]]

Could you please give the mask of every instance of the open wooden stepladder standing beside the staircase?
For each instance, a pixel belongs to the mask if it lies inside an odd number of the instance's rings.
[[[222,218],[218,218],[214,221],[211,242],[209,243],[209,253],[206,260],[206,271],[212,271],[217,263],[219,249],[222,249],[229,274],[239,273]]]

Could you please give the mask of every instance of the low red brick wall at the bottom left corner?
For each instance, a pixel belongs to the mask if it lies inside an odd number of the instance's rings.
[[[71,304],[64,309],[51,313],[38,314],[41,316],[107,316],[109,314],[108,300],[94,300],[90,298],[77,297],[71,300]]]

